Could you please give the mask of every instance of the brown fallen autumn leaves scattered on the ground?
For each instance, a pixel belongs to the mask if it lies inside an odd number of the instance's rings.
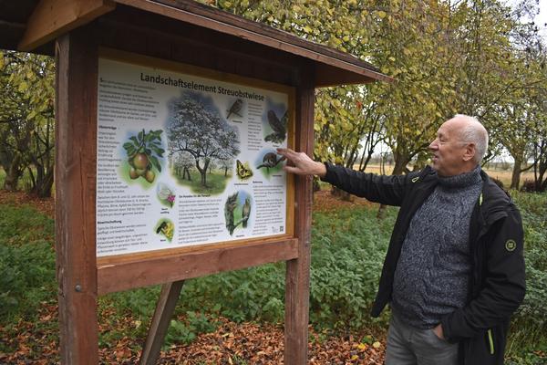
[[[30,204],[37,211],[53,218],[55,203],[52,198],[38,199],[21,192],[0,191],[0,203],[11,205]],[[314,209],[330,211],[352,204],[369,204],[356,198],[353,202],[341,201],[322,191],[315,193]],[[13,349],[9,353],[0,351],[1,364],[55,364],[59,362],[59,330],[57,304],[40,303],[35,320],[20,319],[5,327],[0,325],[0,349]],[[130,314],[115,315],[114,308],[101,308],[98,332],[104,336],[109,332],[129,333],[129,328],[140,324]],[[284,328],[268,323],[234,323],[218,318],[216,331],[199,335],[190,345],[171,345],[161,351],[159,364],[283,364]],[[325,337],[309,328],[308,363],[319,364],[382,364],[383,342],[360,343],[356,336]],[[140,349],[145,339],[121,336],[109,344],[102,344],[99,352],[101,364],[135,364],[140,358]]]

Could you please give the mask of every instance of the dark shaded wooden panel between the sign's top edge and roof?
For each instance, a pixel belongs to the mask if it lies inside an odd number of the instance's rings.
[[[119,5],[98,24],[104,47],[278,85],[295,85],[299,78],[298,57],[127,6]]]

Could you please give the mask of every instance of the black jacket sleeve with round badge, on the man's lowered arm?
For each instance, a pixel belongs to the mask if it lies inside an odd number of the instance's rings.
[[[444,336],[450,342],[473,337],[507,320],[524,298],[526,277],[521,214],[511,205],[508,216],[493,228],[497,232],[493,240],[486,242],[487,262],[482,289],[466,307],[441,320]]]

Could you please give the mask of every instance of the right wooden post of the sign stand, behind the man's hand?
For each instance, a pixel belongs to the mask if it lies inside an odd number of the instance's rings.
[[[296,89],[297,151],[314,153],[314,66],[302,68],[301,83]],[[294,235],[298,238],[298,258],[287,261],[285,276],[285,365],[307,363],[310,241],[312,225],[312,176],[295,180]]]

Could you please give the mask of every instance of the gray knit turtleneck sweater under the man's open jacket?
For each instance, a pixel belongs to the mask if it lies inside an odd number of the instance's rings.
[[[410,221],[397,261],[391,307],[409,326],[433,328],[465,305],[471,272],[470,216],[482,188],[480,166],[439,177]]]

